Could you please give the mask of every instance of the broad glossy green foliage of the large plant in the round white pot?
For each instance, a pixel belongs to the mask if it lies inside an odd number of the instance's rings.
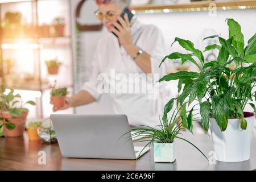
[[[222,131],[226,130],[229,118],[241,118],[241,128],[246,129],[243,110],[249,100],[255,102],[256,96],[255,92],[251,93],[256,81],[256,34],[245,46],[240,24],[233,19],[227,19],[227,22],[229,39],[218,35],[205,38],[218,38],[220,45],[213,44],[205,48],[205,51],[218,49],[217,60],[205,63],[203,53],[189,40],[180,38],[175,38],[175,42],[189,53],[173,52],[162,60],[163,63],[166,59],[181,59],[182,64],[191,61],[201,69],[200,73],[188,71],[170,73],[159,80],[179,80],[177,86],[179,96],[172,100],[180,104],[182,123],[188,130],[192,131],[192,122],[189,121],[186,108],[193,101],[199,102],[201,124],[205,131],[209,129],[209,117],[216,119]],[[236,68],[230,70],[230,64],[235,64]],[[172,102],[166,104],[163,119],[172,109],[171,104]],[[253,103],[249,104],[255,109]],[[189,110],[189,113],[191,112],[192,110]]]

